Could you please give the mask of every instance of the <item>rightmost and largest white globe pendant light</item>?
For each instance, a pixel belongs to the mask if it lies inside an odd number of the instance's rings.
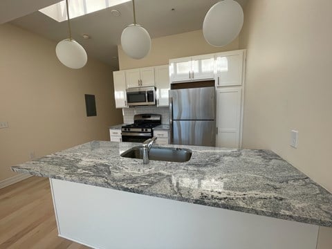
[[[214,4],[205,15],[203,35],[212,46],[225,46],[239,35],[243,26],[243,10],[234,0]]]

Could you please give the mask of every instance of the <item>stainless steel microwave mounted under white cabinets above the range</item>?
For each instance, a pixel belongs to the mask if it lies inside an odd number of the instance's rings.
[[[127,102],[130,106],[156,104],[156,88],[154,86],[127,89]]]

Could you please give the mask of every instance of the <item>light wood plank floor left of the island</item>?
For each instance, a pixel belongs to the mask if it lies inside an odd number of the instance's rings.
[[[48,178],[33,176],[0,189],[0,249],[88,248],[57,237]]]

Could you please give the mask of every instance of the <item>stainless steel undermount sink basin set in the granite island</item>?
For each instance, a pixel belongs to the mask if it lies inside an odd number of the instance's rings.
[[[143,147],[136,146],[120,154],[126,158],[143,158]],[[168,162],[183,163],[190,160],[192,151],[190,149],[172,148],[172,147],[151,147],[149,151],[149,160],[161,160]]]

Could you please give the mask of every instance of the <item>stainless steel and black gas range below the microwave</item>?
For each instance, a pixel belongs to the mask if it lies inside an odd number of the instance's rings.
[[[153,128],[159,124],[160,114],[136,114],[133,116],[133,124],[121,127],[122,142],[144,142],[153,137]]]

